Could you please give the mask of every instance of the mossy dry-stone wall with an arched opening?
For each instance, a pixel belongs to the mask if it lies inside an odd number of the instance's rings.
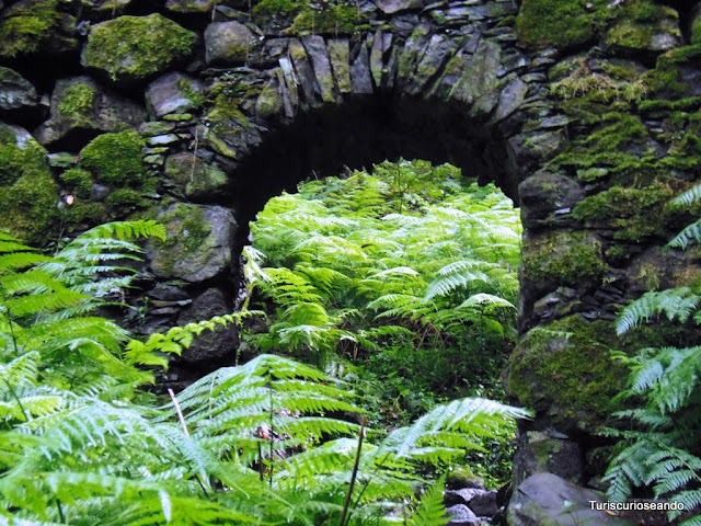
[[[624,377],[609,351],[662,338],[618,340],[611,320],[646,289],[699,278],[698,253],[662,249],[692,217],[668,199],[699,175],[699,9],[647,0],[0,9],[0,229],[50,243],[105,220],[158,218],[169,238],[148,247],[134,298],[133,322],[149,333],[239,305],[248,222],[283,190],[386,158],[449,161],[521,206],[521,340],[506,382],[538,411],[524,431],[574,441],[565,449],[584,471],[570,478],[600,472],[591,433]],[[212,335],[181,374],[230,363],[235,345],[232,331]]]

